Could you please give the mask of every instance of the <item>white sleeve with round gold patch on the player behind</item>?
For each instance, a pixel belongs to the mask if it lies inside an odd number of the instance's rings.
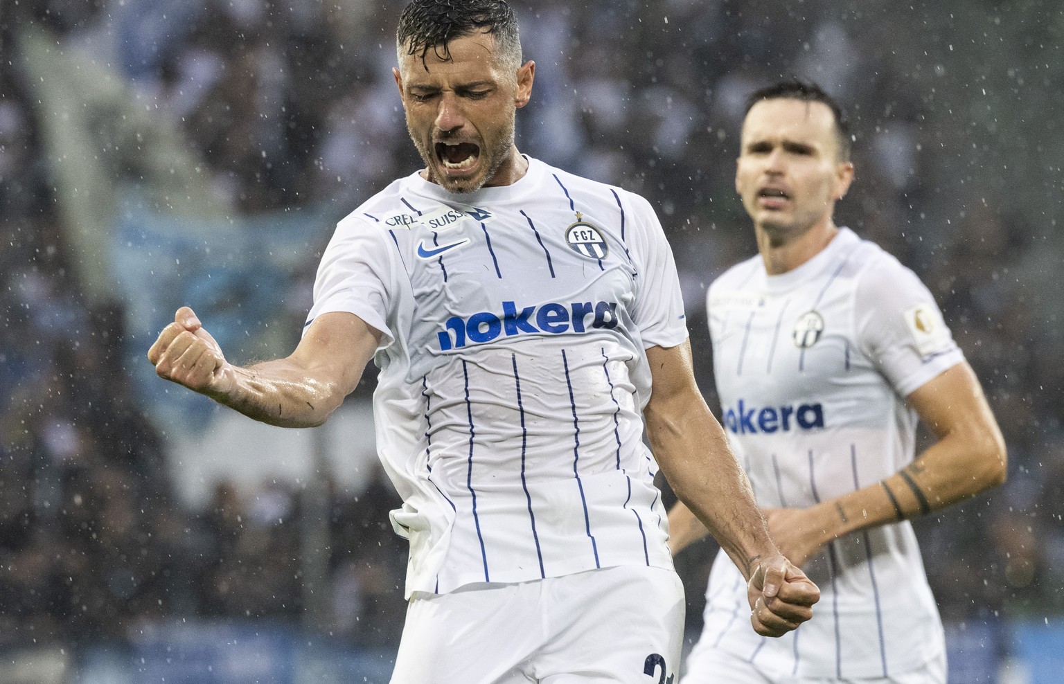
[[[853,311],[859,344],[901,397],[964,361],[931,293],[894,257],[862,276]]]

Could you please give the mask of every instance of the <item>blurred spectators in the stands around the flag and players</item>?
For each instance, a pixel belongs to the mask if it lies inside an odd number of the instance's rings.
[[[242,216],[321,204],[342,215],[417,168],[390,71],[403,4],[22,0],[0,9],[0,647],[120,641],[145,622],[185,616],[305,624],[307,611],[305,485],[271,481],[248,493],[218,482],[200,508],[176,496],[167,440],[123,365],[129,303],[83,287],[92,266],[71,237],[78,191],[55,180],[67,162],[49,147],[26,32],[113,69],[132,106],[178,132],[205,178],[203,203]],[[858,180],[839,222],[924,278],[1010,449],[1004,487],[918,524],[944,616],[1064,613],[1064,364],[1052,353],[1061,336],[1050,334],[1062,310],[1046,295],[1059,287],[1053,206],[1007,203],[1008,188],[992,182],[997,170],[936,157],[935,149],[970,149],[986,159],[1000,139],[957,141],[949,121],[962,101],[949,98],[962,90],[948,90],[935,74],[943,67],[903,54],[917,38],[891,23],[946,19],[895,17],[907,11],[887,2],[821,14],[767,1],[514,4],[537,62],[518,147],[658,207],[711,403],[704,290],[754,251],[732,188],[743,100],[798,74],[848,105]],[[106,130],[90,147],[121,150],[105,167],[116,183],[163,182],[146,162],[152,148],[137,145],[140,132]],[[307,287],[314,262],[289,282]],[[328,495],[330,600],[312,627],[355,644],[394,643],[405,568],[404,543],[387,523],[396,496],[380,476],[365,490]],[[708,546],[680,560],[693,620]]]

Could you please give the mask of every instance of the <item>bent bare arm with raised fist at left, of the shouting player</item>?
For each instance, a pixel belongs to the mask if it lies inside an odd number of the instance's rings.
[[[195,312],[182,306],[148,350],[148,358],[160,378],[250,418],[313,428],[359,384],[380,339],[380,331],[353,314],[322,314],[290,355],[243,368],[226,361]]]

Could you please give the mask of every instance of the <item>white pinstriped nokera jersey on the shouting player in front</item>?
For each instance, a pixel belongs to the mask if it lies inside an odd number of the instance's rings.
[[[373,411],[408,596],[672,567],[644,349],[687,330],[646,200],[532,159],[462,195],[414,173],[339,222],[314,300],[307,324],[384,333]]]

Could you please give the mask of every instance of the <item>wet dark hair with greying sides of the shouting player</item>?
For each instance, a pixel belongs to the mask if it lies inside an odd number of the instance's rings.
[[[496,59],[508,71],[521,65],[521,39],[517,16],[505,0],[414,0],[403,10],[396,30],[399,63],[403,54],[421,57],[429,50],[450,59],[448,45],[455,38],[478,33],[495,36]]]

